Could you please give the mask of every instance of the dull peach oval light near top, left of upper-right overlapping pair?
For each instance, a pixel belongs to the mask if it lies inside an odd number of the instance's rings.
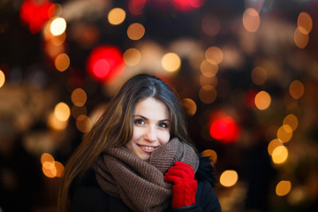
[[[246,31],[254,33],[258,30],[261,24],[261,19],[258,11],[254,8],[247,8],[243,13],[243,26]]]

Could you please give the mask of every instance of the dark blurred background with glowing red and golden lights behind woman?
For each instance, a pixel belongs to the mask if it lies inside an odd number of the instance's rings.
[[[216,168],[223,211],[316,211],[318,2],[0,0],[0,211],[56,211],[117,89],[154,74]]]

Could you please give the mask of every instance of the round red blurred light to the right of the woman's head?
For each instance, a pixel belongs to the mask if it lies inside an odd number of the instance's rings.
[[[231,143],[239,138],[239,127],[232,117],[217,117],[211,124],[210,135],[223,143]]]

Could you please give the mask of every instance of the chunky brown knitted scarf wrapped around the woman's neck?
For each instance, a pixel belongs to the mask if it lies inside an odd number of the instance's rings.
[[[155,149],[148,162],[125,148],[110,148],[100,155],[94,169],[105,193],[120,198],[133,211],[163,211],[170,205],[171,185],[163,174],[176,161],[196,171],[199,159],[192,147],[178,139]]]

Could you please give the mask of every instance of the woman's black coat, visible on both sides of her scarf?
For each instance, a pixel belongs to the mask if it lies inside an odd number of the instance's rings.
[[[213,190],[215,178],[210,161],[206,157],[199,157],[199,168],[195,174],[198,181],[196,204],[183,208],[167,208],[164,212],[220,212],[220,203]],[[119,198],[104,193],[95,179],[95,171],[89,170],[78,183],[71,188],[70,211],[83,212],[131,212],[132,209],[125,206]]]

